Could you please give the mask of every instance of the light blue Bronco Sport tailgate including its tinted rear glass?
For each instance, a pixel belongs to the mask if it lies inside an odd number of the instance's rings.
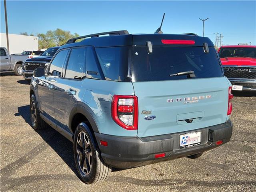
[[[194,71],[193,75],[175,76]],[[170,76],[172,74],[173,76]],[[134,46],[132,80],[138,97],[138,137],[221,124],[228,109],[228,81],[218,55],[199,46]]]

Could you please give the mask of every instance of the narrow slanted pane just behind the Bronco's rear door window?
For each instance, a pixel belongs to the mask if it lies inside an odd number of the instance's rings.
[[[101,79],[97,56],[92,47],[86,48],[86,78]]]

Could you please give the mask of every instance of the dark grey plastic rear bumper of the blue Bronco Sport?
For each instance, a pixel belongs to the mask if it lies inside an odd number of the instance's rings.
[[[232,122],[210,126],[188,132],[201,132],[201,144],[189,148],[179,148],[180,132],[151,137],[119,137],[95,133],[104,162],[115,168],[132,168],[160,161],[186,157],[217,147],[216,141],[226,143],[232,136]],[[108,146],[100,145],[100,140],[108,142]],[[155,154],[165,153],[164,158],[155,158]]]

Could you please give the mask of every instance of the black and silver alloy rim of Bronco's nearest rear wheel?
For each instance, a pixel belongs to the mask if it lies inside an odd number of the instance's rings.
[[[80,132],[76,139],[76,155],[80,170],[88,175],[92,168],[92,148],[85,132]]]

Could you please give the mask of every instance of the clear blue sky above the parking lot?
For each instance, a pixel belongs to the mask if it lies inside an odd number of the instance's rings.
[[[9,1],[9,33],[45,33],[61,28],[80,35],[126,29],[130,33],[153,33],[162,15],[164,33],[193,32],[223,44],[256,44],[256,1]],[[1,32],[5,32],[4,3],[0,2]]]

